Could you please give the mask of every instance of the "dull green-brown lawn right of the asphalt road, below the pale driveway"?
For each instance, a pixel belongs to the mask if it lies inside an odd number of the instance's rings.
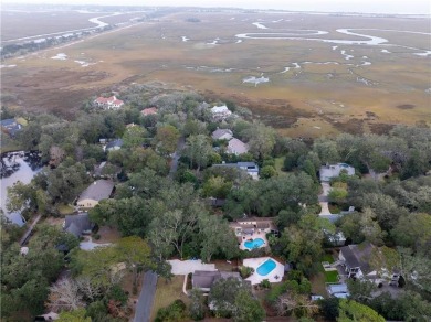
[[[186,304],[188,303],[189,299],[182,292],[183,281],[185,277],[182,275],[172,277],[170,282],[167,282],[164,278],[158,279],[150,321],[155,320],[159,309],[168,307],[175,300],[182,300]]]

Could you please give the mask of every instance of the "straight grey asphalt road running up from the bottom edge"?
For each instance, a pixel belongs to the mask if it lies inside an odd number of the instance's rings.
[[[156,293],[157,273],[147,271],[144,273],[143,288],[136,303],[134,322],[149,322],[154,296]]]

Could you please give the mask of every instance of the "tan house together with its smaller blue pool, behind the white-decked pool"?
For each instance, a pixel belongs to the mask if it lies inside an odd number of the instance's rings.
[[[250,217],[229,223],[234,230],[240,249],[252,250],[267,246],[266,234],[278,234],[273,217]]]

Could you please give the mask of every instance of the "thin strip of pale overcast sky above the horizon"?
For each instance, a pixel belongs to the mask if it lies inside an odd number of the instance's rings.
[[[191,6],[283,9],[292,11],[431,14],[430,0],[3,0],[3,3],[67,3],[124,6]]]

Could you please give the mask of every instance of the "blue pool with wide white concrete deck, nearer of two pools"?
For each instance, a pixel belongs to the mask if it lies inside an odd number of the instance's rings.
[[[284,277],[284,265],[271,257],[246,258],[242,265],[254,269],[252,276],[245,279],[253,286],[264,279],[272,283],[280,282]]]

